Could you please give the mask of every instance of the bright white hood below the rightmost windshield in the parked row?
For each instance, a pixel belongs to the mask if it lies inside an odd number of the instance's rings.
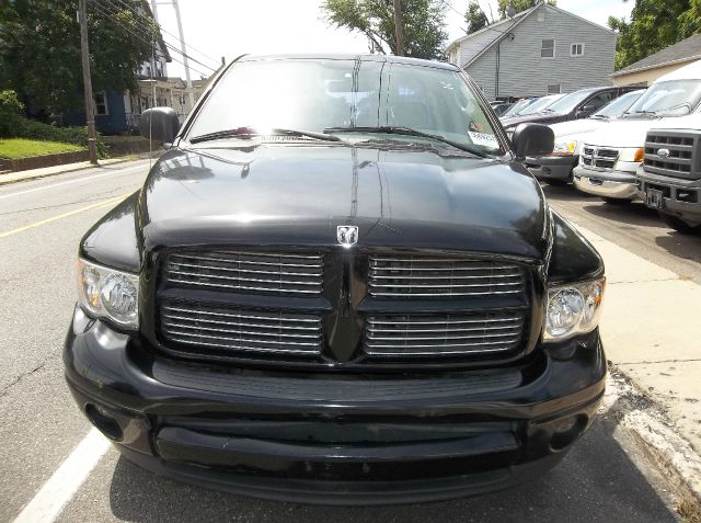
[[[645,145],[645,135],[650,129],[699,128],[701,114],[657,120],[622,118],[611,121],[584,137],[584,141],[599,147],[639,148]]]

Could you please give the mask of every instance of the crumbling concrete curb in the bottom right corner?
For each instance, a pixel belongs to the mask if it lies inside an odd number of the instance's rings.
[[[701,456],[677,434],[664,408],[610,362],[601,408],[660,468],[682,521],[701,522]]]

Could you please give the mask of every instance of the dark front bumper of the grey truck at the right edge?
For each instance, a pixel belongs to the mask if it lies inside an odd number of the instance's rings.
[[[676,216],[690,226],[701,225],[700,180],[682,180],[645,172],[637,175],[637,184],[648,207]],[[662,193],[658,206],[651,205],[647,197],[651,190]]]

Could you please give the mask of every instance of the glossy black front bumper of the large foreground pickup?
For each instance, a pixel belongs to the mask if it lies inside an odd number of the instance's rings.
[[[64,361],[80,408],[131,461],[254,497],[388,504],[532,480],[588,428],[598,331],[518,367],[447,376],[297,375],[160,359],[77,308]]]

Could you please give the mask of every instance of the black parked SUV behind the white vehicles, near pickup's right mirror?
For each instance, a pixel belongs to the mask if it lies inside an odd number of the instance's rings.
[[[602,87],[582,89],[565,94],[552,105],[540,113],[526,114],[502,118],[502,124],[507,132],[516,128],[518,124],[533,122],[539,124],[556,124],[571,120],[586,118],[623,93],[634,91],[634,87]]]

